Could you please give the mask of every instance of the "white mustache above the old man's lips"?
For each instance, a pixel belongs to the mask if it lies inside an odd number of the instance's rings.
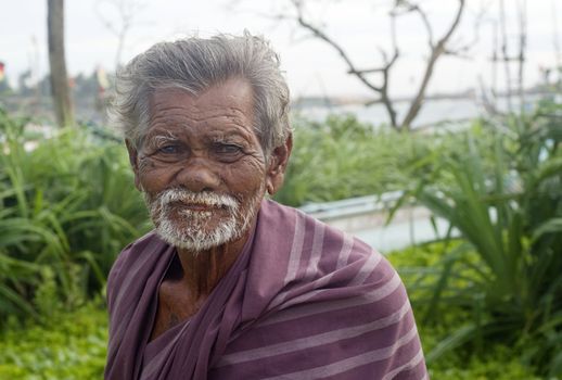
[[[162,207],[176,202],[194,203],[208,207],[221,207],[229,210],[237,210],[239,206],[238,200],[232,195],[217,194],[210,191],[194,192],[181,188],[164,190],[158,193],[156,199],[151,203],[157,204]]]

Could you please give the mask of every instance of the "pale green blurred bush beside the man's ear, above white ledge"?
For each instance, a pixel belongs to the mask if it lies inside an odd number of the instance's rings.
[[[293,153],[276,194],[293,206],[400,190],[411,181],[413,163],[427,154],[425,138],[374,131],[353,115],[322,123],[295,117],[293,125]]]

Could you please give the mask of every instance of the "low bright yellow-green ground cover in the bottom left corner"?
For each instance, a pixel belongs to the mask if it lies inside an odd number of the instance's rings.
[[[94,300],[43,325],[10,326],[0,333],[0,379],[101,379],[107,349],[107,313]]]

